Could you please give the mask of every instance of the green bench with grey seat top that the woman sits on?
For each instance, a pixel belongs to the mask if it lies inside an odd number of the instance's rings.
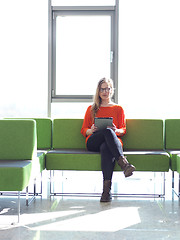
[[[82,123],[83,119],[54,119],[52,150],[46,153],[47,170],[101,171],[100,154],[86,150],[80,134]],[[137,171],[169,171],[163,120],[127,119],[123,142],[124,153]],[[115,171],[120,170],[116,164]]]

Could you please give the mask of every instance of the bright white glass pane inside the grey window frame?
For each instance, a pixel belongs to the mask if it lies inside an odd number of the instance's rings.
[[[111,16],[57,16],[53,97],[92,99],[97,80],[110,77],[110,36]]]

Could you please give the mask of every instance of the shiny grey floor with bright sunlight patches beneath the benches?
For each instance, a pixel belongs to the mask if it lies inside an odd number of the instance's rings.
[[[80,190],[84,190],[83,186],[87,190],[87,186],[85,186],[87,185],[87,174],[77,174],[80,179],[79,183],[75,181],[72,173],[61,174],[64,181],[63,190],[70,190],[70,186],[72,192],[77,191],[76,187],[79,190],[80,186]],[[152,187],[154,183],[151,184],[151,182],[159,181],[159,178],[155,176],[153,180],[150,177],[148,183],[145,181],[145,176],[141,175],[139,178],[139,175],[135,175],[131,180],[130,178],[123,180],[120,177],[121,184],[119,184],[118,177],[119,175],[116,174],[113,178],[113,191],[115,192],[117,190],[119,192],[122,185],[124,186],[123,190],[127,192],[130,190],[131,192],[144,191],[144,189],[154,191],[155,188]],[[48,180],[47,176],[45,178]],[[58,176],[59,178],[60,176]],[[99,180],[99,176],[94,174],[93,180],[88,183],[90,192],[92,189],[95,189],[96,192],[101,190],[101,184],[99,182],[95,184],[97,180]],[[20,224],[14,225],[11,223],[17,221],[16,198],[1,197],[0,239],[180,239],[180,202],[176,196],[172,200],[170,180],[171,174],[169,173],[166,175],[165,198],[118,197],[113,198],[111,203],[100,203],[99,197],[50,197],[49,184],[44,184],[42,199],[38,197],[28,207],[25,206],[25,199],[21,199]],[[56,184],[58,185],[58,182],[55,178]],[[77,184],[79,185],[77,186]],[[150,187],[151,189],[149,189]]]

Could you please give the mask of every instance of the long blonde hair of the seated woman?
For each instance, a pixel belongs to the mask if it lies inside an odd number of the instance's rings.
[[[100,79],[99,80],[99,82],[98,82],[98,84],[97,84],[97,88],[96,88],[96,93],[95,93],[95,95],[94,95],[94,103],[93,103],[93,105],[92,105],[92,108],[91,108],[91,115],[92,115],[92,119],[94,119],[94,117],[96,116],[96,114],[97,114],[97,111],[99,110],[99,107],[100,107],[100,105],[101,105],[101,98],[100,98],[100,96],[99,96],[99,92],[100,92],[100,89],[101,89],[101,85],[103,84],[103,83],[107,83],[109,86],[110,86],[110,88],[112,89],[112,91],[111,91],[111,97],[113,96],[113,94],[114,94],[114,88],[113,88],[113,81],[112,81],[112,79],[110,79],[110,78],[102,78],[102,79]]]

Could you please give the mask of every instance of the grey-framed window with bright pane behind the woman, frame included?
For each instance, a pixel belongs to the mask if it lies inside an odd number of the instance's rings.
[[[49,115],[52,102],[92,102],[103,77],[118,89],[116,6],[49,6]]]

